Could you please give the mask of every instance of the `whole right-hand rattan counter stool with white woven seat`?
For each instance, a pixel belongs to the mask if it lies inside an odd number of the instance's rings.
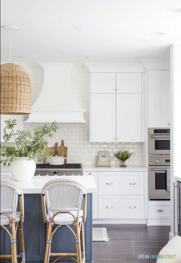
[[[81,203],[83,199],[83,211]],[[45,205],[46,203],[46,205]],[[42,189],[42,207],[44,222],[47,222],[46,249],[44,263],[49,257],[70,257],[77,263],[85,262],[84,222],[86,220],[87,192],[79,181],[57,178],[48,181]],[[46,215],[46,208],[48,214]],[[76,234],[69,225],[76,226]],[[52,226],[58,225],[52,232]],[[51,253],[51,239],[60,226],[67,226],[75,236],[76,253]],[[73,258],[77,257],[77,260]]]

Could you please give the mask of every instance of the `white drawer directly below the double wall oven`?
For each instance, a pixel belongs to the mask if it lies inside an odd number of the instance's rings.
[[[149,201],[149,219],[170,219],[170,201]]]

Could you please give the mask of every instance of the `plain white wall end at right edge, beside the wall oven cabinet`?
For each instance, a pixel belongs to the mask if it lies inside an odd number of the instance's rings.
[[[173,236],[173,182],[175,175],[180,174],[181,148],[181,44],[170,47],[170,201],[171,201],[171,232]]]

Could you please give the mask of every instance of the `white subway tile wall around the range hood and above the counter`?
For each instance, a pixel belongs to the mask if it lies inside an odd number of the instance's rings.
[[[20,64],[20,63],[19,63]],[[26,70],[32,82],[32,105],[36,101],[43,85],[43,68],[37,66],[26,65]],[[49,146],[54,146],[56,142],[61,144],[64,140],[64,145],[68,147],[67,161],[69,163],[83,162],[84,165],[95,165],[97,153],[99,150],[109,150],[112,156],[112,165],[120,164],[117,158],[113,157],[113,153],[119,150],[138,150],[138,158],[133,156],[127,161],[127,164],[141,165],[141,146],[140,142],[122,142],[122,143],[90,143],[89,142],[89,69],[85,64],[76,64],[71,69],[71,84],[77,101],[83,109],[87,109],[84,114],[84,119],[87,123],[58,123],[59,130],[54,138],[49,140]],[[50,88],[52,92],[52,88]],[[48,96],[48,94],[47,94]],[[54,103],[51,102],[50,103]],[[61,98],[60,98],[61,103]],[[24,120],[28,119],[24,115]],[[42,123],[24,123],[24,129],[29,128],[32,131],[33,127],[42,125]],[[4,143],[3,143],[4,144]],[[89,157],[89,150],[94,150],[94,157]]]

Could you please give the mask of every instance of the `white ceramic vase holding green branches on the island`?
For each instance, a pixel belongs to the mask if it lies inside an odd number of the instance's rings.
[[[30,181],[35,173],[36,164],[28,157],[16,157],[10,164],[11,174],[15,181]]]

